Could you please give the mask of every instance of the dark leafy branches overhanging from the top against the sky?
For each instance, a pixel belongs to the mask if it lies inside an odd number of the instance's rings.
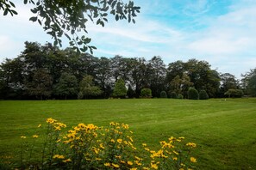
[[[108,21],[109,14],[114,15],[116,21],[128,20],[135,23],[136,13],[140,13],[140,7],[134,6],[134,2],[123,3],[121,0],[78,0],[78,1],[35,1],[24,0],[24,4],[30,3],[34,8],[30,9],[34,16],[30,21],[37,21],[44,31],[52,36],[54,45],[61,46],[61,37],[66,36],[70,40],[70,46],[77,49],[78,52],[86,52],[96,49],[95,46],[89,46],[91,39],[78,36],[86,34],[88,21],[104,27]],[[3,9],[3,15],[17,15],[15,4],[10,1],[0,1],[0,10]],[[78,47],[81,46],[81,47]]]

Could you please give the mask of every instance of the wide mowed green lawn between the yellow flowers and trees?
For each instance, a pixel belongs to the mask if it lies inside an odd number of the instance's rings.
[[[21,136],[55,118],[78,123],[129,124],[134,143],[152,149],[168,137],[197,143],[198,169],[256,169],[256,99],[0,101],[0,155],[15,155]]]

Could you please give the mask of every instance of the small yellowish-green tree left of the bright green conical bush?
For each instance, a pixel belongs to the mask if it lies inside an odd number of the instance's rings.
[[[93,76],[90,75],[84,76],[83,80],[80,82],[79,88],[78,99],[83,99],[83,97],[88,99],[90,96],[102,94],[101,89],[94,85]]]

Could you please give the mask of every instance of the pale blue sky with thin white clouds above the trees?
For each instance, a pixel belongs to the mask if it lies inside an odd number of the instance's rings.
[[[128,2],[123,0],[123,2]],[[113,58],[160,56],[165,64],[191,58],[207,61],[211,69],[240,79],[256,68],[255,0],[134,0],[140,6],[136,23],[115,21],[109,15],[105,27],[88,22],[93,55]],[[37,22],[29,6],[16,3],[18,15],[0,11],[0,62],[16,58],[25,41],[41,45],[52,42]],[[64,46],[67,39],[63,37]]]

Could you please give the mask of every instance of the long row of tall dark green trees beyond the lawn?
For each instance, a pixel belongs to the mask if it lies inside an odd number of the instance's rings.
[[[151,90],[152,97],[188,98],[190,88],[203,90],[210,98],[235,97],[238,90],[255,96],[255,84],[256,69],[239,82],[234,75],[219,73],[208,62],[193,58],[167,65],[159,56],[96,58],[36,42],[25,42],[18,57],[6,58],[0,65],[0,98],[12,100],[138,98],[144,88]]]

